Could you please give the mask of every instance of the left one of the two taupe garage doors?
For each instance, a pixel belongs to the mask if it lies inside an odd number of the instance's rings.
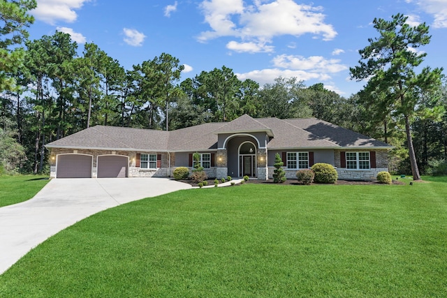
[[[82,154],[64,154],[57,156],[57,178],[91,178],[93,157]]]

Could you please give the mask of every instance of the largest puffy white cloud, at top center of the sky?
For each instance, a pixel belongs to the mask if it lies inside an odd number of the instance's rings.
[[[200,33],[198,40],[234,36],[242,40],[232,43],[236,50],[244,52],[247,47],[247,52],[252,52],[253,45],[272,43],[276,36],[310,33],[331,40],[337,35],[332,25],[325,24],[321,6],[300,5],[293,0],[265,2],[255,0],[252,5],[244,5],[242,0],[203,1],[200,8],[211,30]]]

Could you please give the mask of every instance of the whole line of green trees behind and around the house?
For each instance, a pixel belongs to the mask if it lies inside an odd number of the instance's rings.
[[[374,20],[381,35],[369,40],[359,65],[351,68],[353,79],[367,84],[345,98],[295,77],[260,86],[226,66],[180,81],[184,66],[167,53],[126,70],[94,43],[85,43],[78,54],[67,33],[28,40],[24,28],[33,19],[27,10],[34,7],[32,0],[0,6],[2,20],[14,21],[0,29],[0,50],[6,53],[0,57],[3,171],[47,172],[45,144],[89,126],[175,130],[242,114],[316,117],[383,140],[396,147],[396,172],[415,175],[415,165],[425,172],[431,161],[447,157],[442,69],[415,73],[425,54],[410,49],[427,44],[430,36],[425,24],[409,27],[403,15]]]

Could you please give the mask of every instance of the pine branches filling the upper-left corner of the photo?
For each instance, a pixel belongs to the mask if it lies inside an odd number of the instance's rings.
[[[36,8],[35,0],[0,1],[0,91],[12,89],[15,73],[23,64],[24,50],[20,45],[29,36],[26,27],[34,22],[28,10]]]

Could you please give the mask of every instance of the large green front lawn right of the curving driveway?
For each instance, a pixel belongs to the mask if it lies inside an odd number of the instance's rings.
[[[131,202],[35,248],[0,297],[445,297],[446,181]]]

